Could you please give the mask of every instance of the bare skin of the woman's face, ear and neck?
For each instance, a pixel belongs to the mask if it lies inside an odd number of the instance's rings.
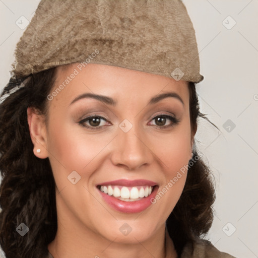
[[[77,65],[58,68],[52,91],[78,70]],[[152,97],[165,92],[177,93],[184,104],[168,97],[148,105]],[[70,105],[83,93],[109,96],[117,104],[84,98]],[[58,230],[48,245],[54,258],[177,257],[173,243],[165,253],[165,222],[181,195],[186,173],[159,201],[135,214],[112,209],[95,185],[148,179],[157,182],[160,191],[188,164],[195,132],[190,127],[187,82],[88,64],[48,105],[47,123],[33,108],[27,114],[34,154],[49,158],[56,183]],[[78,123],[93,113],[108,118],[101,120],[100,130]],[[162,129],[152,117],[163,113],[174,114],[180,121]],[[118,126],[124,119],[133,125],[127,133]],[[164,124],[172,122],[166,119]],[[81,176],[76,184],[68,180],[72,171]],[[132,228],[126,236],[119,230],[124,223]]]

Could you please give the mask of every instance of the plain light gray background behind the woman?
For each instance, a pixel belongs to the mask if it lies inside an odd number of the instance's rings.
[[[21,16],[30,21],[38,3],[0,0],[1,91],[9,81],[15,45],[24,31],[16,21]],[[205,77],[197,85],[201,111],[221,130],[202,120],[196,137],[216,179],[216,216],[208,238],[236,257],[258,257],[258,1],[183,3],[196,30]],[[236,22],[231,29],[234,21],[228,16]],[[223,126],[228,119],[236,125],[230,132],[227,124]]]

